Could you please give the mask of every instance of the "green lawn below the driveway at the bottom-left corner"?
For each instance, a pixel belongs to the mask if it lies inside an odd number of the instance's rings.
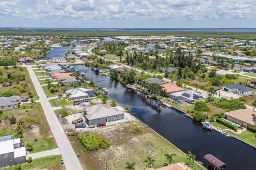
[[[47,156],[43,158],[34,159],[32,163],[21,164],[21,169],[62,169],[63,165],[60,165],[61,156]],[[5,170],[13,170],[15,166],[4,168]]]

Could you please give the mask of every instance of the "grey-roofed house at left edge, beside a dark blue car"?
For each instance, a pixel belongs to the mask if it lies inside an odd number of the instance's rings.
[[[5,111],[19,108],[19,100],[19,96],[0,97],[0,109]]]

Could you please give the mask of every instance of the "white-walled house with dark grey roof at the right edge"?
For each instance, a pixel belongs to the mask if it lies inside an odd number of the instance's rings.
[[[222,87],[223,91],[236,92],[240,96],[252,95],[252,92],[256,89],[244,86],[242,84],[229,84]]]

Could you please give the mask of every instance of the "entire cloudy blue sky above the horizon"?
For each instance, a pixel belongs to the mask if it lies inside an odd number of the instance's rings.
[[[256,0],[0,0],[0,27],[256,28]]]

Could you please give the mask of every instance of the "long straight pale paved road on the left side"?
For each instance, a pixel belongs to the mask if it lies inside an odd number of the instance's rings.
[[[26,66],[66,169],[83,169],[31,66]]]

